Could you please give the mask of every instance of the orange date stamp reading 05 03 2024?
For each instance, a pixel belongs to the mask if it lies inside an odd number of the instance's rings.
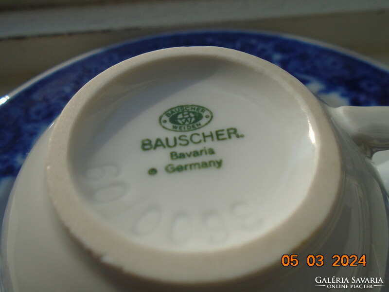
[[[308,267],[321,267],[324,265],[323,255],[308,255],[304,257],[304,261]],[[283,255],[281,257],[281,264],[284,267],[296,267],[300,264],[298,255]],[[366,255],[333,255],[332,263],[333,267],[358,267],[366,266]]]

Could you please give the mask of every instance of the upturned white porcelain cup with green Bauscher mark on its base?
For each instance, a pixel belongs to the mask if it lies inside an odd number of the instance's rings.
[[[119,63],[18,176],[6,291],[384,291],[388,198],[371,156],[389,148],[388,117],[330,108],[230,49]]]

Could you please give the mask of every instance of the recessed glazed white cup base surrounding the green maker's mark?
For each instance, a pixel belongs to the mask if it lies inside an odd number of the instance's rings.
[[[79,197],[129,240],[173,252],[223,250],[268,233],[304,201],[318,161],[310,117],[278,82],[223,63],[166,62],[137,74],[151,80],[139,85],[120,77],[74,126],[69,159]],[[181,72],[184,65],[190,70]],[[159,125],[165,110],[192,104],[212,111],[208,125]],[[152,167],[157,174],[148,174]]]

